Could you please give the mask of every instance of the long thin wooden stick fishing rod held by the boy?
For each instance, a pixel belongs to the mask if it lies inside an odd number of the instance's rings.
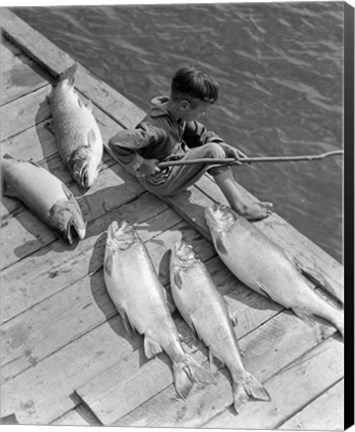
[[[170,166],[178,165],[193,165],[196,163],[206,163],[211,165],[238,165],[240,163],[255,163],[255,162],[290,162],[290,161],[313,161],[319,159],[325,159],[330,156],[343,155],[343,150],[334,150],[318,155],[301,155],[301,156],[261,156],[261,157],[241,157],[241,158],[225,158],[225,159],[213,159],[213,158],[202,158],[202,159],[191,159],[191,160],[174,160],[159,162],[157,165],[159,168],[166,168]]]

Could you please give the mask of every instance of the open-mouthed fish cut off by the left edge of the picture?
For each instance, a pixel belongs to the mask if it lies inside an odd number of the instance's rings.
[[[70,189],[33,161],[1,159],[3,195],[20,200],[69,244],[86,236],[86,222]]]

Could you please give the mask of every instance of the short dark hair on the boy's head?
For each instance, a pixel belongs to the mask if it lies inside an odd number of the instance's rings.
[[[174,101],[186,99],[193,108],[198,102],[191,98],[213,104],[218,99],[218,90],[217,81],[198,66],[179,69],[171,82],[171,98]]]

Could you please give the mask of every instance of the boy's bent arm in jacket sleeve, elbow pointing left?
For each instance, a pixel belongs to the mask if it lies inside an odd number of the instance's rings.
[[[136,129],[124,129],[108,142],[117,159],[130,171],[137,172],[145,159],[137,152],[149,144],[157,142],[164,131],[157,130],[147,123],[141,123]]]

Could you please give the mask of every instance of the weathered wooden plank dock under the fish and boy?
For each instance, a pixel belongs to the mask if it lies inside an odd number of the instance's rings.
[[[224,202],[213,179],[206,175],[162,201],[105,153],[97,183],[83,193],[46,127],[46,96],[54,77],[74,60],[9,10],[1,15],[1,152],[33,159],[54,173],[77,196],[88,221],[86,239],[68,246],[20,202],[2,198],[1,417],[15,414],[20,424],[32,425],[343,429],[339,333],[321,320],[307,326],[226,269],[203,217],[206,206]],[[76,89],[92,101],[105,143],[144,115],[81,65]],[[122,218],[135,224],[167,289],[167,250],[177,238],[194,246],[238,311],[245,367],[264,383],[271,402],[250,401],[235,415],[224,368],[216,384],[194,389],[185,402],[177,398],[166,355],[145,358],[142,337],[127,335],[105,289],[105,231]],[[316,268],[343,301],[342,265],[277,214],[256,225],[302,266]],[[188,336],[178,312],[173,318]],[[208,361],[202,343],[189,349],[199,363]]]

